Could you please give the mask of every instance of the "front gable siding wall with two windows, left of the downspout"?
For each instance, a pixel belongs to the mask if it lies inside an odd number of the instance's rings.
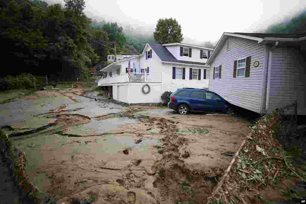
[[[231,37],[230,50],[226,51],[224,43],[211,63],[209,90],[236,106],[260,113],[265,52],[266,45],[257,41]],[[250,76],[234,78],[234,61],[248,56],[251,56]],[[253,65],[255,61],[259,61],[258,67]],[[219,65],[222,65],[221,79],[213,79],[214,67]]]

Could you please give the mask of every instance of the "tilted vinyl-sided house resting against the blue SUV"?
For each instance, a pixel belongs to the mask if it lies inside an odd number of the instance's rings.
[[[207,60],[209,90],[260,114],[297,100],[305,115],[305,36],[223,33]]]

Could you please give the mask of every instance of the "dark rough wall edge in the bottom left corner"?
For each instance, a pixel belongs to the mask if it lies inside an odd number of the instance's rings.
[[[9,170],[13,183],[18,190],[20,203],[57,204],[52,196],[44,195],[29,181],[26,172],[26,155],[14,147],[12,141],[0,130],[0,154]]]

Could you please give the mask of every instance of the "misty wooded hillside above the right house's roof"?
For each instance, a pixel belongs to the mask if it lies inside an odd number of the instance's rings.
[[[265,33],[303,34],[306,33],[306,10],[290,20],[268,27]]]

